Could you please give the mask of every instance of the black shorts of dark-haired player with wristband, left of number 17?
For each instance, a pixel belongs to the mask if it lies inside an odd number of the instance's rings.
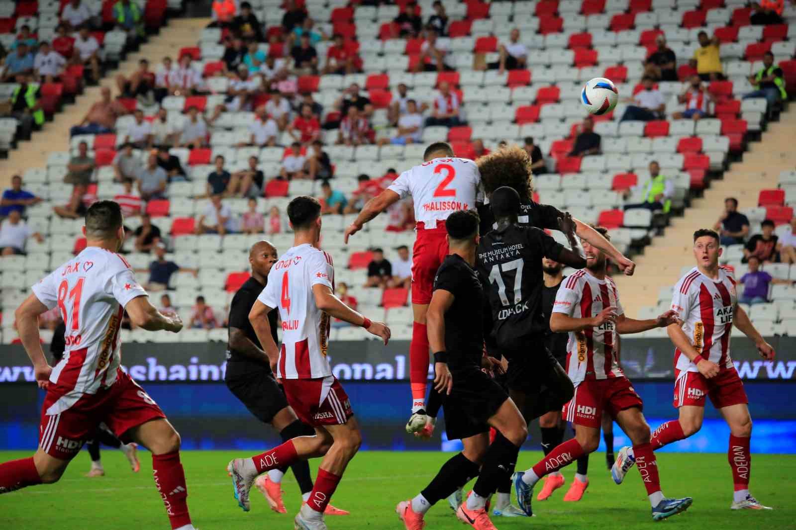
[[[509,395],[478,368],[451,370],[453,390],[443,400],[445,432],[449,440],[489,432],[486,423]]]

